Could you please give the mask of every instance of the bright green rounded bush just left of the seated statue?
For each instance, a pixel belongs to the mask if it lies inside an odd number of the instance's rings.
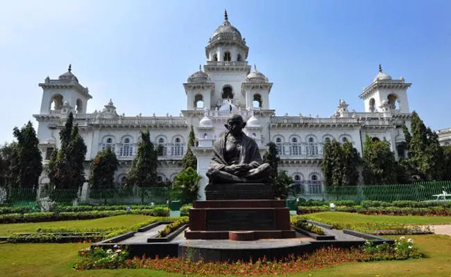
[[[201,176],[193,168],[187,168],[174,177],[172,189],[179,192],[182,204],[192,204],[197,200],[199,181]]]

